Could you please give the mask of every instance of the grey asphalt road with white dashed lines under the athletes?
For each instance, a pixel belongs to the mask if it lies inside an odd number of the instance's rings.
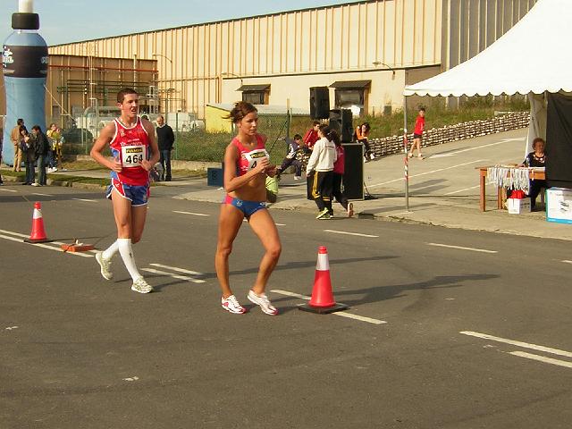
[[[105,248],[101,192],[0,190],[1,428],[570,427],[569,242],[271,210],[281,314],[231,315],[218,206],[169,192],[154,189],[135,246],[156,288],[140,295],[119,257],[105,282],[93,253],[21,242],[38,200],[50,239]],[[297,309],[319,246],[345,316]],[[245,305],[261,255],[245,223],[231,257]]]

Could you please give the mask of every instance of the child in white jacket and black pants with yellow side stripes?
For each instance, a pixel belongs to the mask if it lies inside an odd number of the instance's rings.
[[[312,156],[307,161],[306,174],[314,172],[312,197],[318,206],[316,219],[330,219],[332,216],[333,163],[336,161],[336,147],[330,140],[332,131],[327,125],[318,127],[320,139],[315,142]]]

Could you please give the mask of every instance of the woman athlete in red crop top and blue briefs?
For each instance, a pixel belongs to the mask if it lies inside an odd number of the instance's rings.
[[[265,295],[266,283],[282,252],[278,230],[265,205],[266,175],[273,177],[276,166],[270,164],[270,156],[265,149],[266,137],[257,132],[257,108],[240,101],[231,110],[229,119],[234,122],[239,133],[224,152],[224,165],[232,168],[224,169],[224,189],[227,195],[221,205],[214,256],[216,277],[223,291],[221,306],[236,315],[247,312],[232,293],[229,282],[232,243],[246,218],[265,248],[257,280],[248,290],[247,297],[249,301],[260,306],[265,314],[277,315],[278,310]]]

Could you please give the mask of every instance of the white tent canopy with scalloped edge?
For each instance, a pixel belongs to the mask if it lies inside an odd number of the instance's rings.
[[[405,96],[486,96],[572,91],[572,0],[538,0],[483,52],[405,87]]]

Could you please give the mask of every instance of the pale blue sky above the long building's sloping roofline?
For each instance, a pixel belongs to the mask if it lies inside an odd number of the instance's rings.
[[[0,0],[0,39],[13,32],[12,13],[18,0]],[[39,33],[48,46],[91,38],[106,38],[152,29],[167,29],[209,21],[223,21],[278,13],[352,0],[35,0]]]

